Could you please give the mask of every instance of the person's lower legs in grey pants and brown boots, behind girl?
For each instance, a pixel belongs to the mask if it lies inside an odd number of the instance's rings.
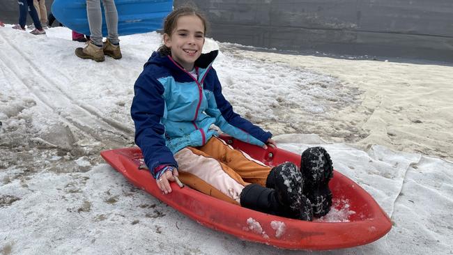
[[[121,59],[121,49],[118,39],[118,12],[114,0],[102,0],[107,22],[107,40],[102,42],[102,12],[100,0],[86,0],[86,14],[90,27],[90,40],[86,47],[75,49],[75,54],[82,59],[93,59],[96,62],[105,61],[105,55]]]

